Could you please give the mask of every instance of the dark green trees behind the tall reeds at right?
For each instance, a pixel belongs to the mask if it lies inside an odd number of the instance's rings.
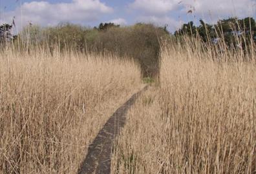
[[[212,43],[224,37],[224,41],[228,46],[235,45],[235,38],[241,35],[246,37],[244,39],[246,42],[251,39],[251,36],[256,42],[256,24],[255,19],[252,17],[246,17],[244,19],[230,17],[219,20],[217,24],[208,24],[202,19],[199,22],[199,26],[195,26],[193,21],[183,24],[182,28],[175,32],[175,36],[189,35],[199,37],[204,42]]]

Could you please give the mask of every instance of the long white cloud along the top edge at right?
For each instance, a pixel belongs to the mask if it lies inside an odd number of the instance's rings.
[[[199,15],[245,17],[255,15],[256,0],[134,0],[129,7],[140,14],[158,16],[193,10]]]

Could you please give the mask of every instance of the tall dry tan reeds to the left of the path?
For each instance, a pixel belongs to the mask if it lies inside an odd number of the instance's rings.
[[[76,173],[101,126],[140,88],[132,62],[53,54],[0,53],[0,173]]]

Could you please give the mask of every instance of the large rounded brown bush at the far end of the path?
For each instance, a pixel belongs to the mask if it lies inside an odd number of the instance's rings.
[[[159,70],[160,39],[167,36],[164,28],[139,23],[100,32],[96,45],[97,50],[104,48],[118,53],[120,57],[133,57],[140,63],[144,77],[156,77]]]

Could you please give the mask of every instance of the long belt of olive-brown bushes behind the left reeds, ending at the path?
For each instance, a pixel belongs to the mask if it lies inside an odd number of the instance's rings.
[[[50,49],[81,52],[111,52],[119,57],[132,57],[140,63],[144,77],[158,75],[160,39],[167,37],[166,28],[138,23],[120,27],[112,23],[87,28],[76,24],[40,28],[28,26],[20,34],[21,43],[46,45]],[[26,36],[26,37],[25,37]]]

